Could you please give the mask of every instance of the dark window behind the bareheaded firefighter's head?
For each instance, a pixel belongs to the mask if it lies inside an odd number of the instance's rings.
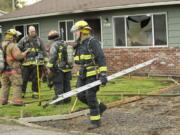
[[[15,29],[22,33],[22,35],[18,38],[18,41],[21,40],[21,38],[23,38],[24,36],[28,35],[29,26],[34,26],[36,29],[37,35],[39,36],[39,24],[16,25]]]

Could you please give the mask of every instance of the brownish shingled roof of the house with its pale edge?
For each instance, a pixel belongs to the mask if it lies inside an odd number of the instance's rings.
[[[180,4],[179,0],[42,0],[0,17],[0,22],[113,9]]]

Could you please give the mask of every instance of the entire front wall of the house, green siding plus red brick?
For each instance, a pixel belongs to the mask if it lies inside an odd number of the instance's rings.
[[[143,48],[115,48],[113,42],[113,16],[136,15],[146,13],[167,13],[168,23],[168,47],[143,47]],[[180,76],[180,5],[150,7],[138,9],[116,10],[108,12],[96,12],[76,14],[71,16],[55,16],[39,19],[29,19],[2,23],[3,31],[13,25],[25,23],[39,23],[40,36],[47,43],[47,33],[51,29],[58,29],[58,20],[81,18],[101,18],[102,22],[102,44],[107,58],[109,71],[117,72],[132,65],[139,64],[154,57],[158,57],[152,66],[139,70],[136,73],[152,75]],[[106,20],[108,19],[108,23]]]

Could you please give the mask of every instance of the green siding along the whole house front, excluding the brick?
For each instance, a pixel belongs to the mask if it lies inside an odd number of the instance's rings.
[[[125,16],[125,15],[136,15],[136,14],[147,14],[147,13],[167,13],[168,22],[168,41],[169,47],[179,47],[180,46],[180,5],[179,6],[164,6],[164,7],[150,7],[150,8],[138,8],[138,9],[126,9],[126,10],[116,10],[108,12],[97,12],[97,13],[86,13],[86,14],[76,14],[71,16],[54,16],[38,19],[27,19],[22,21],[12,21],[0,23],[2,24],[3,31],[12,28],[14,25],[26,24],[26,23],[39,23],[40,24],[40,35],[44,41],[47,41],[47,33],[51,29],[58,29],[59,20],[78,20],[81,18],[101,18],[102,19],[102,39],[104,48],[114,47],[113,42],[113,16]],[[109,22],[105,23],[108,18]]]

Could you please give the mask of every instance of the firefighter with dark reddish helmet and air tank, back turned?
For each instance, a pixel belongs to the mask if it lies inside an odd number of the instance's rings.
[[[55,91],[55,97],[53,99],[57,99],[58,95],[71,90],[72,66],[68,63],[67,45],[61,40],[59,33],[55,30],[50,31],[48,33],[48,40],[51,40],[52,43],[47,67],[50,69],[49,72],[53,74],[52,81]],[[67,98],[57,104],[69,102],[71,102],[71,98]]]

